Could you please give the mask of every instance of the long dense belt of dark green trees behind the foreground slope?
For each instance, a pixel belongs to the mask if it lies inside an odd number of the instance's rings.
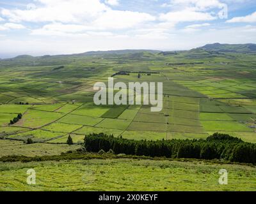
[[[241,163],[256,163],[256,145],[239,138],[214,133],[206,140],[127,140],[113,135],[90,134],[84,138],[84,147],[90,152],[112,149],[116,154],[136,156],[226,159]]]

